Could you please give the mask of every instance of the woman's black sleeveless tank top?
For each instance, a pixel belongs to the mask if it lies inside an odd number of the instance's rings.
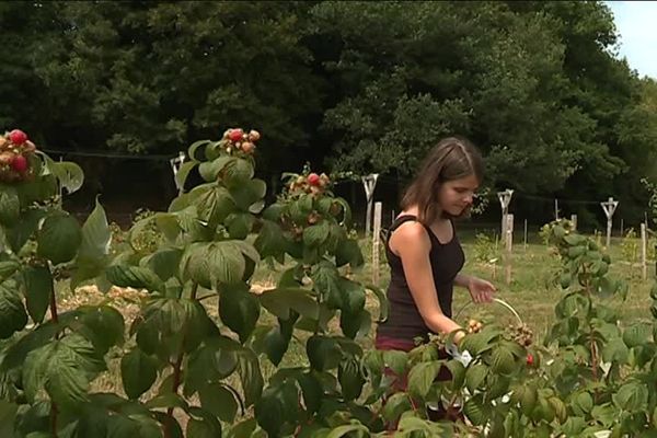
[[[390,266],[390,285],[388,287],[390,312],[388,320],[379,324],[377,337],[384,336],[411,341],[416,337],[422,337],[427,341],[428,333],[433,332],[427,327],[417,310],[417,306],[415,306],[415,301],[408,289],[406,277],[404,276],[402,260],[390,250],[389,244],[390,235],[394,230],[404,222],[416,220],[417,218],[415,216],[400,216],[395,219],[387,233],[385,255],[388,257],[388,265]],[[438,303],[440,304],[442,313],[451,318],[454,278],[465,262],[463,249],[459,243],[456,230],[452,240],[448,243],[440,243],[429,227],[425,226],[425,230],[429,234],[431,241],[429,260],[431,263],[431,272],[434,273],[436,291],[438,293]]]

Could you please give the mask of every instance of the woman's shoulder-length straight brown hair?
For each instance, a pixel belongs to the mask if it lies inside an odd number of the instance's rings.
[[[448,137],[438,142],[423,162],[417,176],[406,189],[401,206],[404,210],[417,206],[417,219],[429,226],[442,209],[438,194],[442,183],[474,175],[481,183],[484,162],[479,149],[469,140]]]

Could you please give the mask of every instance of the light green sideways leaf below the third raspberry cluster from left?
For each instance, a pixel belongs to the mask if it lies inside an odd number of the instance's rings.
[[[320,318],[316,300],[303,288],[276,288],[264,291],[257,299],[265,309],[283,320],[290,318],[290,310],[313,320]]]

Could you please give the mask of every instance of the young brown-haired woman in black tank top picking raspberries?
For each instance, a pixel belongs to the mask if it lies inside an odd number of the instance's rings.
[[[426,158],[389,230],[390,312],[377,330],[378,349],[408,351],[429,333],[461,328],[451,319],[454,286],[466,288],[475,302],[493,299],[491,283],[461,274],[465,257],[453,223],[468,214],[482,176],[482,157],[468,140],[446,138]],[[454,342],[462,336],[459,332]],[[443,367],[438,378],[451,377]],[[403,389],[405,379],[397,383]]]

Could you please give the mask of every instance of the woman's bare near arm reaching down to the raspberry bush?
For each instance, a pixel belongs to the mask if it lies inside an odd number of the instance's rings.
[[[445,334],[461,328],[440,309],[429,261],[431,241],[425,228],[418,222],[403,223],[390,238],[390,247],[402,260],[406,283],[425,324],[431,331]],[[454,342],[462,336],[459,332]]]

